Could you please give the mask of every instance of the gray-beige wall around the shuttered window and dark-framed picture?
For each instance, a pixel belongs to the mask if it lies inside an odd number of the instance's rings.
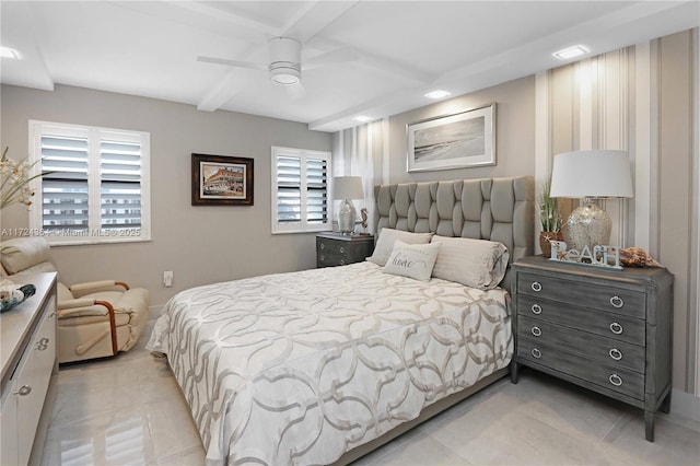
[[[270,147],[331,150],[332,136],[304,124],[57,85],[54,92],[2,85],[1,144],[28,154],[28,120],[47,120],[151,133],[152,241],[52,247],[65,283],[117,278],[148,288],[151,304],[217,281],[315,266],[313,234],[270,233]],[[190,154],[255,159],[253,207],[190,206]],[[3,228],[28,225],[21,207],[2,211]],[[175,272],[164,288],[164,270]]]

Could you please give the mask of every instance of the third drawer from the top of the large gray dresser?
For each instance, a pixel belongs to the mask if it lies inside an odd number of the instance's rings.
[[[644,372],[645,350],[641,346],[549,324],[524,315],[517,316],[517,336],[584,354],[614,366]]]

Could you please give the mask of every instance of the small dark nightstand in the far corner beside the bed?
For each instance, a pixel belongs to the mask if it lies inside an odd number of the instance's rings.
[[[374,236],[319,233],[316,235],[316,267],[361,263],[374,252]]]

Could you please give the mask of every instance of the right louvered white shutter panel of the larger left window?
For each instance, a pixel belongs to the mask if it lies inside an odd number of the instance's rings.
[[[141,145],[100,141],[101,226],[141,226]]]

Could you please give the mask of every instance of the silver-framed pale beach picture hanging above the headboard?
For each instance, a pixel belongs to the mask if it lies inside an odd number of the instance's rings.
[[[495,104],[407,126],[408,171],[495,165]]]

